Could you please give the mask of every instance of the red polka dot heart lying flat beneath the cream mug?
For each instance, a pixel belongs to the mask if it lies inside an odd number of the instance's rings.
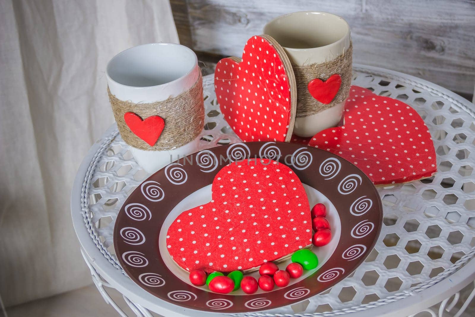
[[[344,125],[315,134],[315,146],[358,166],[375,185],[411,182],[437,172],[434,143],[407,104],[352,86]]]

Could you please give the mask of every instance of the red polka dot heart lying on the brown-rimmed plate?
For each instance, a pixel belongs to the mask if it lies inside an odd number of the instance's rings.
[[[167,231],[167,250],[183,269],[251,269],[311,243],[308,198],[286,165],[230,163],[211,190],[211,202],[182,212]]]

